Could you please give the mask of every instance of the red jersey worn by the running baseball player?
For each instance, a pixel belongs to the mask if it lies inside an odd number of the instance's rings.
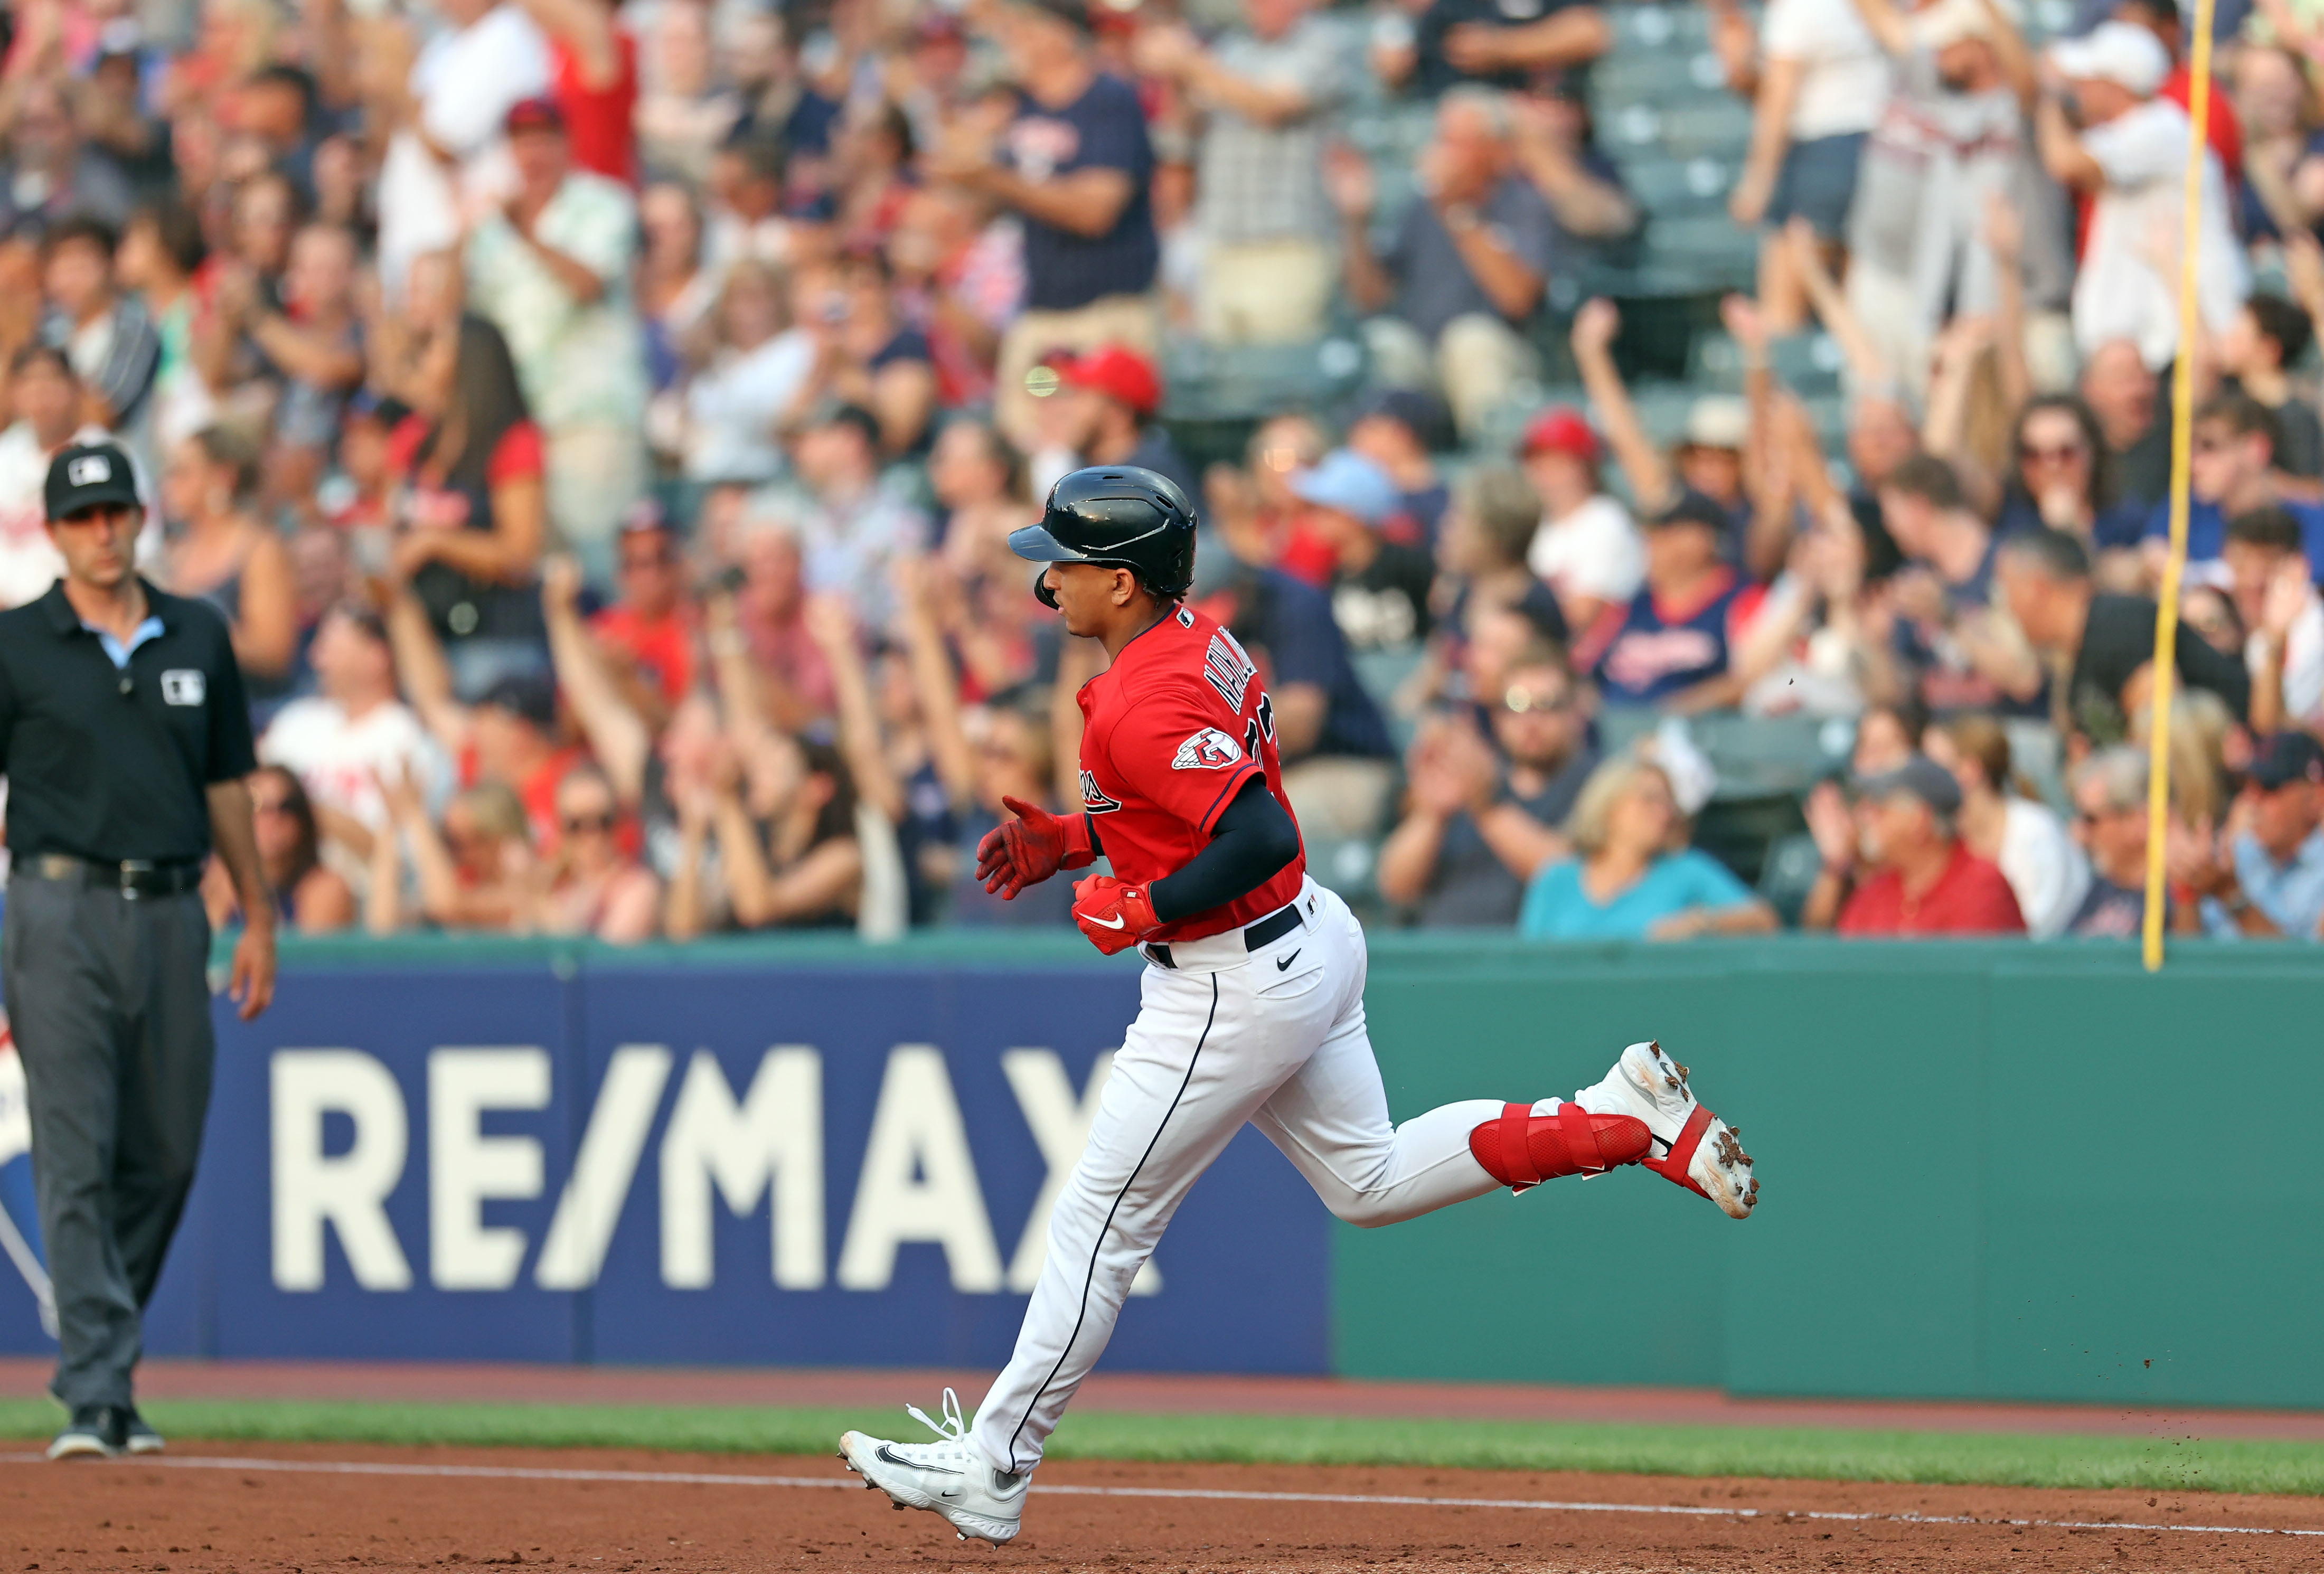
[[[1292,811],[1276,707],[1234,635],[1199,611],[1176,607],[1081,686],[1081,807],[1120,879],[1143,886],[1183,870],[1253,777]],[[1155,939],[1239,930],[1294,900],[1304,877],[1301,844],[1257,890],[1167,923]]]

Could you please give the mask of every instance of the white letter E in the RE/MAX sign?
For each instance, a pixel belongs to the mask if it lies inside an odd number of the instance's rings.
[[[507,1290],[525,1232],[486,1225],[488,1200],[541,1195],[537,1137],[486,1137],[486,1109],[546,1109],[548,1051],[437,1049],[428,1056],[428,1279],[439,1290]]]

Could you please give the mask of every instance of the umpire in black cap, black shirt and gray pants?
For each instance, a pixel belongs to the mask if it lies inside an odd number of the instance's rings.
[[[33,1186],[56,1283],[51,1393],[72,1421],[49,1458],[158,1453],[130,1381],[209,1107],[216,846],[246,928],[232,995],[274,993],[274,900],[258,870],[258,767],[225,621],[137,577],[144,507],[128,456],[72,444],[49,465],[65,577],[0,611],[7,923],[0,988],[33,1107]]]

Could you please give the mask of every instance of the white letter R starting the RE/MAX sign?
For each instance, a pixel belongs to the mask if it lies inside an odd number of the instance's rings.
[[[411,1142],[395,1074],[360,1049],[279,1049],[267,1063],[274,1160],[274,1288],[323,1288],[323,1230],[365,1290],[409,1290],[388,1193]],[[323,1153],[323,1116],[353,1121],[346,1153]]]

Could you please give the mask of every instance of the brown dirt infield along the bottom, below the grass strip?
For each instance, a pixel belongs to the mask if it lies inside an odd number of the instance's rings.
[[[1025,1534],[992,1551],[892,1514],[830,1458],[193,1441],[167,1458],[0,1460],[0,1572],[2324,1565],[2324,1502],[2308,1497],[1060,1460]]]

